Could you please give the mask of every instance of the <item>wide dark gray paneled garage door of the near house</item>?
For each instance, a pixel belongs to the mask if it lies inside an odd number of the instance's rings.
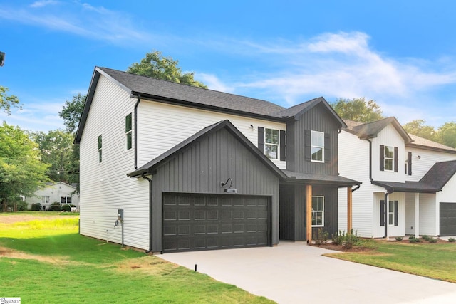
[[[163,194],[163,252],[268,246],[269,197]]]

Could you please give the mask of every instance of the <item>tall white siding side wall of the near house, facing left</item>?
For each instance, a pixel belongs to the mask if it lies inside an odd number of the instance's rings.
[[[121,243],[118,209],[124,209],[124,243],[149,248],[149,192],[143,179],[131,179],[134,147],[126,150],[125,116],[135,98],[100,75],[81,137],[81,234]],[[134,114],[133,114],[134,115]],[[98,136],[103,162],[98,163]],[[133,139],[134,140],[134,139]]]

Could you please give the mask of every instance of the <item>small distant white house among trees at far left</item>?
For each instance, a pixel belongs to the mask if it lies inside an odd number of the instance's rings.
[[[46,184],[42,189],[35,192],[35,196],[26,197],[27,208],[31,209],[32,204],[41,204],[46,210],[52,203],[73,204],[79,206],[79,194],[76,194],[76,187],[64,182]]]

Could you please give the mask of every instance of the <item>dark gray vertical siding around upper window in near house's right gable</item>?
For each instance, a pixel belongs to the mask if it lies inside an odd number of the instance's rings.
[[[288,123],[287,146],[289,147],[286,169],[292,172],[312,174],[338,174],[338,125],[333,114],[323,105],[304,112],[296,120]],[[306,155],[306,132],[318,131],[329,135],[328,147],[325,147],[325,162],[311,162]],[[327,155],[329,153],[330,155]]]

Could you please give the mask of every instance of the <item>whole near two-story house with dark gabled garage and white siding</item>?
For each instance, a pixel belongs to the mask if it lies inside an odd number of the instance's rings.
[[[343,127],[324,98],[287,109],[95,68],[76,134],[81,234],[167,253],[335,233],[338,188],[360,184],[338,174]]]

